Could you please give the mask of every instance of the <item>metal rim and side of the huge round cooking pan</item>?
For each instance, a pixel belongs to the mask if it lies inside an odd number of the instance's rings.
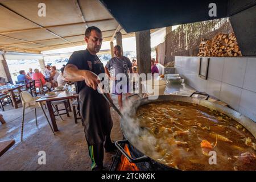
[[[207,96],[207,99],[209,96]],[[137,142],[135,138],[139,137],[136,136],[138,134],[134,126],[131,126],[131,121],[129,120],[129,117],[132,117],[135,115],[137,109],[141,105],[150,104],[158,101],[181,101],[181,102],[189,102],[192,104],[201,105],[204,107],[208,107],[209,109],[213,109],[216,111],[219,111],[220,113],[228,115],[230,118],[233,118],[235,121],[240,123],[242,126],[244,126],[247,130],[250,131],[250,133],[256,138],[256,123],[252,121],[251,119],[245,117],[244,115],[238,113],[237,111],[230,109],[229,107],[222,106],[220,104],[215,104],[214,102],[210,102],[208,100],[200,100],[199,98],[195,97],[187,97],[187,96],[174,96],[174,95],[166,95],[166,96],[159,96],[157,100],[150,100],[147,98],[140,98],[139,100],[136,100],[133,102],[133,107],[130,107],[130,109],[126,110],[125,113],[123,113],[121,118],[121,130],[123,132],[123,135],[125,137],[124,140],[118,140],[115,142],[115,146],[117,146],[118,150],[122,152],[123,155],[126,156],[126,158],[131,163],[136,163],[136,165],[140,169],[144,170],[173,170],[176,168],[172,168],[170,166],[167,166],[164,163],[159,163],[156,161],[154,156],[151,156],[150,154],[147,154],[147,151],[145,151],[142,147],[140,147],[140,144]],[[130,150],[130,155],[127,154],[125,150],[123,150],[122,146],[123,143],[127,143]],[[150,143],[148,143],[150,145]]]

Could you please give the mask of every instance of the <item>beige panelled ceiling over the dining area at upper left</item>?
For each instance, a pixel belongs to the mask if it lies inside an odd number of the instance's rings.
[[[39,3],[46,16],[38,16]],[[97,26],[104,41],[127,34],[98,0],[0,0],[0,49],[40,53],[85,44],[86,27]]]

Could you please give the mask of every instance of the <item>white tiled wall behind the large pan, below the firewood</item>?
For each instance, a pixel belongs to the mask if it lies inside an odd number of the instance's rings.
[[[198,76],[199,57],[175,57],[175,72],[256,122],[256,57],[209,57],[208,79]]]

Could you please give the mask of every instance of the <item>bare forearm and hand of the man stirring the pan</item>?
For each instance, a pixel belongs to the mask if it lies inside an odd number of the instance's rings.
[[[85,81],[87,86],[90,86],[94,90],[97,89],[98,80],[97,75],[88,70],[78,69],[76,65],[68,64],[64,69],[64,77],[69,81]]]

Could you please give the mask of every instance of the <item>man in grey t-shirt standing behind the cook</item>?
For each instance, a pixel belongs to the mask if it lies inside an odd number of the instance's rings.
[[[114,54],[115,57],[112,57],[108,61],[108,63],[105,65],[105,72],[106,75],[110,78],[110,80],[113,80],[112,83],[112,92],[113,94],[117,95],[118,98],[118,105],[121,109],[123,109],[123,100],[122,100],[122,94],[123,91],[126,95],[126,100],[128,98],[129,94],[129,78],[128,78],[128,72],[133,73],[133,70],[131,69],[131,61],[128,57],[125,57],[122,55],[122,49],[120,46],[114,47]],[[110,73],[109,73],[110,71]],[[119,73],[125,74],[127,78],[127,84],[118,86],[118,82],[122,80],[117,80],[117,75]]]

